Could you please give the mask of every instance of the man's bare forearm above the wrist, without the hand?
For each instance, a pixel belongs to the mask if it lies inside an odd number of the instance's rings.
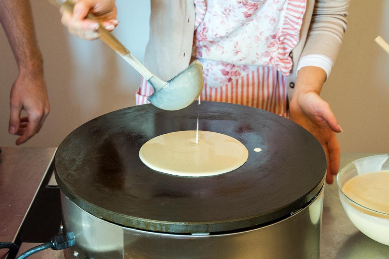
[[[42,54],[35,37],[30,1],[0,0],[0,22],[19,71],[42,73]]]

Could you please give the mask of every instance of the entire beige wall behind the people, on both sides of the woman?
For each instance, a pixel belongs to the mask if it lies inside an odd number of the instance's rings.
[[[82,123],[134,105],[140,76],[102,42],[69,36],[57,10],[44,0],[32,2],[51,114],[25,146],[53,147]],[[149,1],[117,0],[117,5],[121,23],[115,35],[142,60],[149,33]],[[388,151],[389,55],[374,43],[379,34],[389,40],[386,14],[389,1],[351,2],[349,30],[322,91],[343,128],[339,135],[342,151]],[[9,88],[17,69],[2,31],[0,48],[0,146],[11,146],[16,137],[7,133]]]

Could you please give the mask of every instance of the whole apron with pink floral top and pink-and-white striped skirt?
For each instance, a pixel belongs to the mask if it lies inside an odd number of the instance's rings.
[[[223,101],[287,117],[289,57],[299,41],[306,0],[194,0],[192,56],[204,66],[201,100]],[[142,79],[137,105],[149,103]]]

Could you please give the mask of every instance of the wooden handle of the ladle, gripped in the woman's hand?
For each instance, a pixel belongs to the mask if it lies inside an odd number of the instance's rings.
[[[53,3],[52,1],[49,2]],[[75,3],[73,1],[67,0],[61,5],[61,7],[73,13],[74,5]],[[97,29],[97,32],[100,35],[100,39],[105,42],[105,44],[107,44],[109,47],[111,47],[114,51],[116,51],[122,56],[130,54],[130,51],[126,49],[126,47],[124,47],[123,44],[121,44],[121,42],[117,40],[114,35],[112,35],[112,33],[110,33],[107,29],[104,28],[104,26],[100,23],[99,19],[96,16],[91,13],[88,13],[86,17],[99,23],[100,26]]]

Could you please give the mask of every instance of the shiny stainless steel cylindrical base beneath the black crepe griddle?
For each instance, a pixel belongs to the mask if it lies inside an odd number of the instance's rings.
[[[76,245],[65,258],[312,259],[319,258],[324,185],[299,211],[266,226],[229,233],[183,235],[119,226],[99,219],[61,193],[63,224]]]

